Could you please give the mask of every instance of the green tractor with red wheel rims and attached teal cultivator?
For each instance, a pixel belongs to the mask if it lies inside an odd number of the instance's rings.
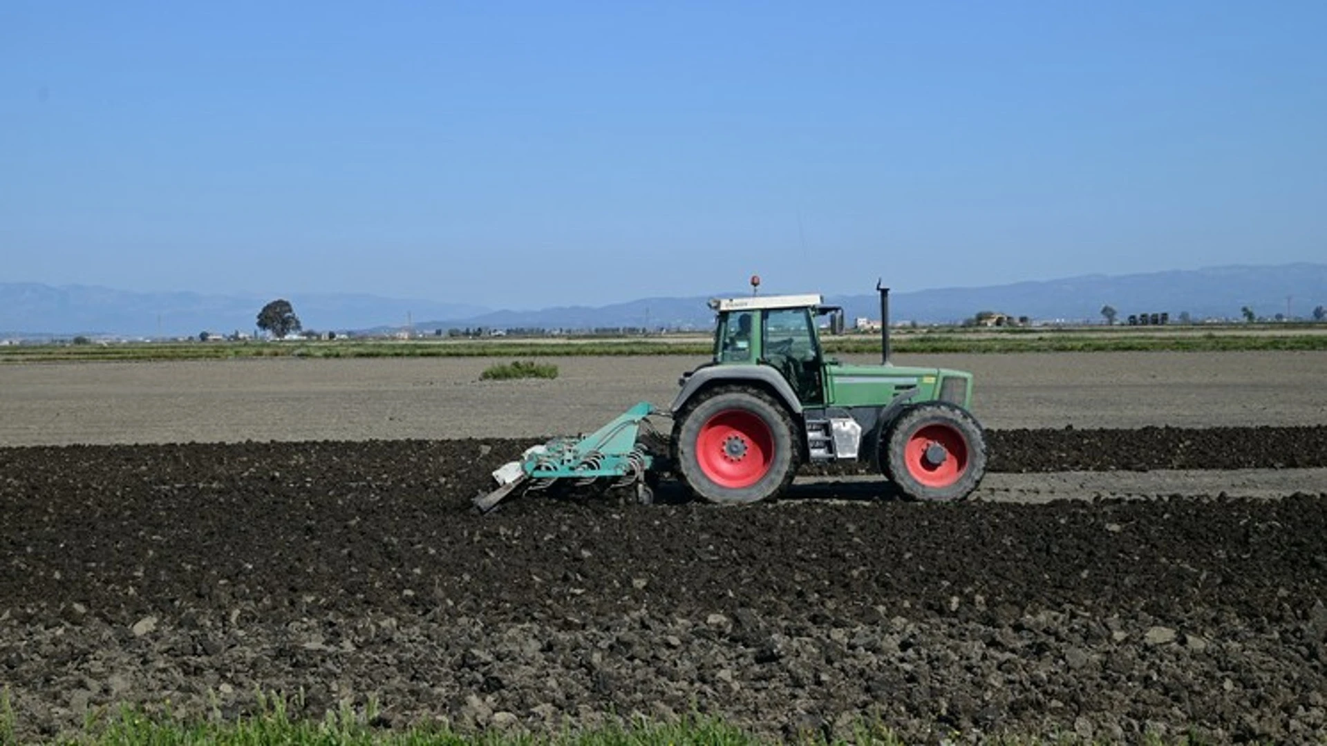
[[[966,498],[986,473],[985,435],[967,411],[973,376],[890,364],[889,289],[877,289],[880,365],[824,354],[821,321],[841,333],[844,320],[819,295],[711,300],[714,357],[682,374],[666,413],[641,402],[589,435],[535,446],[495,471],[499,488],[475,506],[605,479],[649,502],[665,471],[706,500],[751,503],[784,491],[802,465],[833,461],[867,461],[914,499]],[[670,437],[650,415],[671,417]]]

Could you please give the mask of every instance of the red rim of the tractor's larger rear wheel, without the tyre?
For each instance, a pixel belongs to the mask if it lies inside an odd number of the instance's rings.
[[[730,490],[750,487],[770,473],[774,433],[758,414],[726,409],[701,426],[695,459],[715,485]]]

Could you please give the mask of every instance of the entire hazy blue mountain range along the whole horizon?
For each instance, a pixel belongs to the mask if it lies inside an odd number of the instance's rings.
[[[864,284],[874,285],[874,277]],[[813,292],[816,288],[798,288]],[[714,295],[744,295],[722,293]],[[288,297],[311,329],[390,331],[407,323],[417,331],[450,328],[591,329],[649,327],[705,329],[713,313],[710,296],[649,297],[604,307],[557,307],[540,311],[492,311],[476,305],[370,295],[322,293]],[[1289,299],[1289,303],[1287,303]],[[50,287],[0,283],[0,338],[114,335],[125,337],[196,336],[199,332],[252,332],[257,311],[271,297],[192,292],[138,293],[101,287]],[[849,321],[877,319],[874,292],[827,296]],[[1035,320],[1100,321],[1101,307],[1120,319],[1131,313],[1188,312],[1193,319],[1238,319],[1243,307],[1258,316],[1287,313],[1308,317],[1327,305],[1327,264],[1213,267],[1140,275],[1087,275],[981,288],[940,288],[890,296],[894,321],[947,323],[979,311]]]

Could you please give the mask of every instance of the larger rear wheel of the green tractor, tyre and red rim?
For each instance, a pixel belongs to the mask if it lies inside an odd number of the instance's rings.
[[[798,466],[792,419],[759,389],[723,386],[698,394],[675,417],[677,469],[711,503],[776,495]]]

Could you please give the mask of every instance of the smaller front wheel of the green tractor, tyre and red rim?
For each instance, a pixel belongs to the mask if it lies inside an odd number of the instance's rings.
[[[885,477],[918,500],[961,500],[986,474],[986,437],[965,409],[946,402],[910,406],[889,426],[880,463]]]

